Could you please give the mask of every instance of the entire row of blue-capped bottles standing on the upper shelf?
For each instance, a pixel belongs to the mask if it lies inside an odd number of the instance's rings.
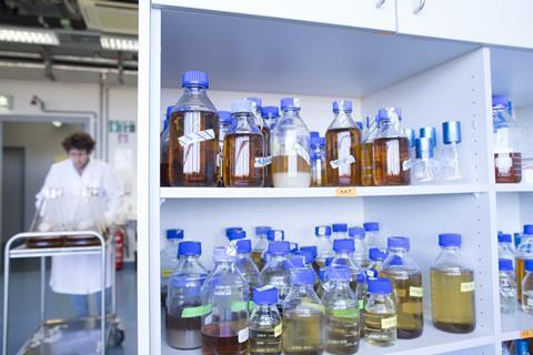
[[[217,111],[207,93],[207,73],[183,72],[181,84],[183,94],[168,108],[161,132],[162,186],[384,186],[463,179],[459,121],[442,123],[439,148],[436,129],[422,128],[415,138],[414,130],[402,128],[399,108],[380,109],[363,125],[352,118],[350,100],[336,100],[332,122],[320,136],[309,131],[298,98],[281,99],[280,109],[248,98],[233,101],[231,112]],[[511,104],[504,108],[497,116],[509,116]],[[496,134],[496,176],[516,179],[520,153],[514,145],[507,149],[514,142],[513,121],[503,122]]]

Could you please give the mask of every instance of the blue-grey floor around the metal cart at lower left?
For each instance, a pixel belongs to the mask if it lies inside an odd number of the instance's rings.
[[[16,260],[11,267],[8,354],[16,354],[39,325],[40,278],[38,264],[34,261],[29,263],[27,260],[24,263],[24,261]],[[0,281],[0,298],[3,302],[3,271]],[[91,307],[95,310],[93,305]],[[128,265],[117,273],[117,310],[121,325],[125,331],[125,339],[122,346],[110,348],[107,354],[134,355],[137,354],[137,272],[133,265]],[[1,315],[2,307],[0,307]],[[48,287],[47,318],[69,318],[72,316],[73,311],[69,296],[54,294]],[[0,328],[1,326],[0,322]]]

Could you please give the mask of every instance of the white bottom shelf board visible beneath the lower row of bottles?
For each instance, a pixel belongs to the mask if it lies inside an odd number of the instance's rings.
[[[162,324],[161,334],[161,354],[188,354],[200,355],[201,349],[194,351],[178,351],[167,345],[164,335],[164,325]],[[428,355],[428,354],[441,354],[446,352],[454,352],[467,348],[474,348],[479,346],[485,346],[494,344],[494,337],[487,332],[475,331],[470,334],[452,334],[445,333],[433,327],[431,321],[425,320],[424,334],[415,339],[398,341],[394,346],[391,347],[378,347],[368,344],[364,339],[361,342],[361,354],[372,355]],[[324,352],[324,354],[328,354]]]

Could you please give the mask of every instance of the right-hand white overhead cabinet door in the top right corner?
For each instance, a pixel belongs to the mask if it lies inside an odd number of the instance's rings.
[[[398,0],[398,31],[533,48],[533,1]]]

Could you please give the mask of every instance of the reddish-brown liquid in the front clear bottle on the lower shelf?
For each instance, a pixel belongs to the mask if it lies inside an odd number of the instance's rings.
[[[235,322],[211,323],[202,328],[202,355],[244,355],[249,341],[239,343],[238,331],[244,326]]]

